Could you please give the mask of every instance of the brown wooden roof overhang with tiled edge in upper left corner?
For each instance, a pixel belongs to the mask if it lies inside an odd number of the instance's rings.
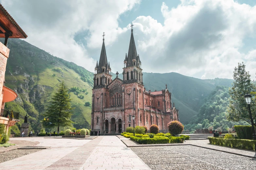
[[[5,38],[5,46],[7,46],[8,38],[26,37],[26,33],[0,4],[0,38]]]

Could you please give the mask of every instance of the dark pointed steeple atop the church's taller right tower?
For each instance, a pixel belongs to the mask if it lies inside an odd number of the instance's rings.
[[[133,25],[131,25],[131,26],[133,26]],[[133,29],[131,29],[131,38],[130,38],[130,45],[129,45],[129,50],[128,50],[126,67],[132,66],[133,65],[132,59],[136,59],[137,56],[138,56],[137,50],[136,50],[135,41],[134,41],[134,37],[133,37]]]

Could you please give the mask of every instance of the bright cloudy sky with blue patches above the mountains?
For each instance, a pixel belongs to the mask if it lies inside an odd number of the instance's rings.
[[[232,78],[256,72],[255,0],[0,0],[27,42],[94,72],[102,35],[112,72],[122,72],[130,24],[144,72]]]

